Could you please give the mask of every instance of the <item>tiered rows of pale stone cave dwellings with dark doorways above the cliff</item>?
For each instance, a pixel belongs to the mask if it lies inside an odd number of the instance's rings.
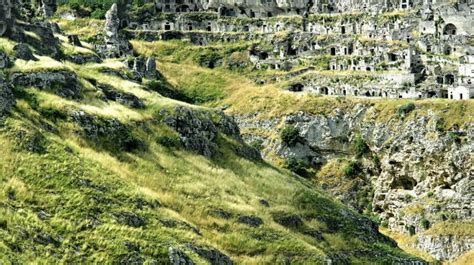
[[[259,42],[248,51],[247,65],[287,73],[258,82],[291,78],[298,86],[289,91],[323,95],[472,97],[472,77],[465,70],[471,59],[465,56],[472,51],[473,0],[154,3],[155,18],[130,18],[129,27],[146,38],[183,38],[200,46]],[[341,82],[341,71],[354,78]]]

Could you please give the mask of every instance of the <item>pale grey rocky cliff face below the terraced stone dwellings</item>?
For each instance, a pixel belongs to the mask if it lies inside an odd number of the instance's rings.
[[[445,119],[438,114],[399,111],[382,121],[374,115],[373,106],[359,104],[329,115],[300,112],[271,120],[247,116],[239,124],[249,132],[246,140],[263,142],[265,155],[296,158],[316,169],[334,159],[354,160],[352,146],[360,135],[368,147],[368,154],[357,159],[362,172],[356,179],[343,180],[349,187],[342,190],[341,185],[322,188],[355,208],[358,191],[371,190],[366,195],[372,201],[369,210],[377,213],[382,224],[420,234],[417,247],[436,259],[450,260],[473,249],[472,238],[421,234],[448,219],[473,219],[474,123],[466,119],[446,129]],[[299,132],[292,146],[252,134],[257,130],[278,132],[288,125]]]

